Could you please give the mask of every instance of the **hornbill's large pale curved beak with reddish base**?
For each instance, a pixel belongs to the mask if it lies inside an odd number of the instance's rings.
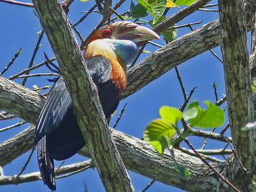
[[[127,39],[139,44],[142,41],[160,39],[160,37],[149,28],[138,26],[136,23],[123,21],[125,25],[116,28],[116,39]],[[124,24],[122,23],[122,24]],[[114,37],[115,37],[114,36]]]

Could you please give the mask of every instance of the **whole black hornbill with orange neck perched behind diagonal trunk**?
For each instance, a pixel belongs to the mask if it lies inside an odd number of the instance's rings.
[[[138,55],[143,41],[160,39],[149,28],[131,21],[104,26],[87,41],[84,61],[98,89],[100,104],[108,119],[127,86],[127,65]],[[86,144],[62,75],[48,93],[35,127],[37,161],[44,184],[56,190],[54,160],[66,160]]]

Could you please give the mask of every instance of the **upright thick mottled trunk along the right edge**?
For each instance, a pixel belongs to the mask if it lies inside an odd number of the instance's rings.
[[[241,162],[251,177],[255,174],[256,131],[241,131],[248,122],[253,122],[254,109],[250,88],[250,67],[246,36],[246,13],[244,1],[219,1],[224,75],[228,102],[228,117],[232,134],[232,143]],[[237,165],[236,162],[233,162]],[[241,169],[235,173],[230,166],[230,179],[241,191],[252,190],[247,177],[242,177]],[[232,173],[232,175],[231,175]],[[234,174],[235,173],[235,174]],[[235,177],[237,177],[237,179]],[[240,175],[241,177],[238,177]]]

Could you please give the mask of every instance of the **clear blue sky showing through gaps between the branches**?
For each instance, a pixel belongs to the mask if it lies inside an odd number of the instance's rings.
[[[31,2],[31,1],[24,1]],[[113,5],[117,1],[113,1]],[[127,0],[122,8],[118,9],[118,12],[125,12],[129,10],[130,1]],[[216,3],[212,1],[210,3]],[[87,2],[82,2],[76,0],[71,5],[71,10],[68,13],[68,19],[72,23],[75,23],[82,15],[82,11],[89,10],[94,5],[94,1],[89,0]],[[21,55],[16,59],[15,64],[13,64],[10,69],[4,73],[3,77],[10,77],[16,73],[24,70],[28,67],[29,61],[33,55],[33,50],[37,44],[37,39],[39,35],[37,32],[42,30],[39,20],[33,12],[33,8],[26,8],[21,6],[15,6],[8,3],[0,2],[0,71],[9,63],[13,55],[22,48]],[[183,8],[183,6],[181,6]],[[216,8],[216,7],[214,7]],[[167,16],[174,14],[178,11],[179,8],[172,8]],[[202,12],[196,11],[194,14],[190,15],[188,18],[183,19],[177,25],[185,23],[193,23],[196,21],[203,21],[200,25],[194,26],[197,28],[205,23],[213,21],[218,18],[217,12]],[[149,15],[147,18],[150,18]],[[91,30],[98,24],[101,16],[98,13],[92,13],[82,22],[77,29],[80,30],[82,36],[85,38],[86,35],[89,35]],[[178,31],[178,37],[185,35],[189,32],[189,28],[181,28]],[[162,37],[161,37],[162,38]],[[78,39],[79,41],[79,39]],[[155,41],[158,44],[165,45],[163,40]],[[147,50],[154,51],[157,48],[153,46],[147,46]],[[220,48],[214,48],[214,51],[221,57]],[[53,57],[53,52],[51,46],[48,44],[46,35],[42,39],[42,46],[39,48],[39,51],[35,57],[35,64],[39,64],[44,61],[44,52],[48,55],[49,58]],[[149,53],[143,53],[139,61],[143,57],[147,57]],[[210,100],[215,102],[214,90],[212,84],[215,82],[217,84],[217,90],[219,98],[225,94],[224,87],[224,78],[223,78],[223,66],[222,64],[212,55],[212,53],[204,52],[203,54],[196,56],[189,61],[181,64],[179,66],[181,76],[183,78],[183,83],[187,90],[187,93],[190,93],[190,90],[194,86],[199,86],[196,88],[195,93],[192,96],[191,101],[199,100],[199,102]],[[42,67],[37,70],[34,70],[32,73],[51,73],[48,68]],[[26,83],[28,88],[33,88],[33,85],[38,87],[46,86],[49,83],[46,79],[51,77],[30,77]],[[21,83],[21,79],[15,79],[18,83]],[[122,100],[117,109],[117,113],[114,115],[111,120],[110,126],[113,126],[116,118],[118,117],[120,109],[127,103],[125,110],[125,115],[122,117],[118,123],[117,129],[134,137],[141,138],[143,137],[143,131],[147,124],[159,117],[158,109],[163,105],[181,107],[183,104],[183,95],[181,92],[181,87],[179,81],[176,78],[176,73],[174,70],[165,73],[165,75],[153,81],[148,86],[145,86],[137,93],[134,93],[130,97]],[[225,106],[225,104],[224,104]],[[204,106],[205,107],[205,106]],[[0,128],[10,126],[13,123],[19,122],[19,119],[14,119],[12,121],[0,122]],[[0,133],[0,142],[7,140],[8,138],[16,135],[17,133],[23,131],[28,127],[28,124],[12,128],[10,131],[5,131]],[[203,140],[198,137],[189,137],[190,141],[196,148],[200,148],[203,144]],[[185,146],[185,145],[183,145]],[[224,144],[221,142],[214,143],[209,140],[207,148],[221,148]],[[15,175],[19,173],[21,168],[24,166],[28,158],[29,153],[25,153],[14,160],[12,163],[3,167],[5,175]],[[86,160],[85,157],[80,155],[75,155],[70,159],[66,160],[64,165],[70,164],[73,162],[81,162]],[[61,162],[55,162],[55,166],[58,166]],[[30,160],[28,167],[24,173],[31,173],[39,171],[37,166],[36,155],[33,154],[32,160]],[[143,190],[151,179],[143,177],[136,173],[129,171],[131,180],[134,184],[135,190]],[[104,191],[102,182],[98,176],[97,171],[88,170],[66,177],[60,180],[57,180],[57,191],[84,191],[87,187],[89,191]],[[29,182],[19,185],[6,185],[0,186],[0,191],[50,191],[46,186],[44,186],[42,180],[37,182]],[[148,191],[181,191],[172,186],[167,186],[161,182],[155,182],[153,186]]]

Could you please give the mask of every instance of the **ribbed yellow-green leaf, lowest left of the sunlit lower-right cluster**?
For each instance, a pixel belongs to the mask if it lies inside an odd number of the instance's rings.
[[[143,138],[162,154],[164,149],[171,145],[171,138],[175,132],[174,126],[165,119],[155,119],[145,129]]]

